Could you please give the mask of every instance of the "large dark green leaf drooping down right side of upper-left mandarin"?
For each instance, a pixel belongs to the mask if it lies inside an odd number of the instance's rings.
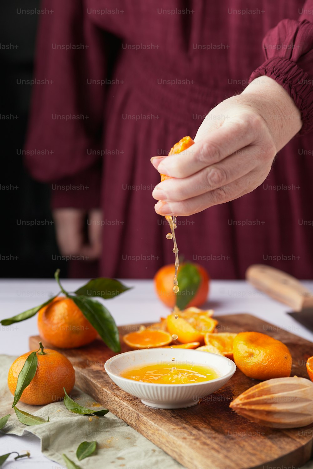
[[[86,296],[69,296],[88,319],[90,324],[98,331],[101,339],[114,352],[121,351],[120,335],[107,308],[97,300]]]

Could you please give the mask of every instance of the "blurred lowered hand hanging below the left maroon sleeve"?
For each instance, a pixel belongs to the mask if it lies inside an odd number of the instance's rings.
[[[101,254],[102,218],[99,209],[88,213],[74,208],[55,209],[53,219],[61,254],[74,259],[76,256],[81,256],[82,260],[98,259]]]

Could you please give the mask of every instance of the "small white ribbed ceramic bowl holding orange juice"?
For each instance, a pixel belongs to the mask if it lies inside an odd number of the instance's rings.
[[[213,368],[219,378],[189,384],[142,383],[129,378],[122,378],[121,372],[137,365],[158,362],[192,363]],[[149,407],[174,409],[191,407],[198,404],[201,397],[214,393],[233,376],[236,371],[234,362],[221,355],[183,348],[150,348],[133,350],[109,358],[104,365],[109,377],[124,391],[139,397]]]

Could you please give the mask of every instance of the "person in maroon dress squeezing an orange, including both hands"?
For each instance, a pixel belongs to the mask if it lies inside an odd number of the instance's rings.
[[[174,262],[173,213],[180,254],[213,278],[313,277],[312,0],[42,8],[26,149],[53,153],[27,166],[51,184],[61,252],[88,257],[71,276],[151,278]]]

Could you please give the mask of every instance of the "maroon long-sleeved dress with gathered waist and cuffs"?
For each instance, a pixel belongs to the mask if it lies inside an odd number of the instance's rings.
[[[252,6],[253,4],[253,6]],[[255,5],[255,6],[254,6]],[[313,1],[46,0],[27,157],[53,207],[103,208],[99,272],[151,278],[174,262],[154,212],[150,158],[194,137],[206,114],[267,75],[303,127],[252,193],[177,219],[185,259],[215,279],[253,263],[313,278]],[[263,45],[262,45],[263,41]],[[53,83],[51,83],[53,82]],[[73,276],[88,276],[88,263]],[[88,273],[87,273],[88,272]]]

